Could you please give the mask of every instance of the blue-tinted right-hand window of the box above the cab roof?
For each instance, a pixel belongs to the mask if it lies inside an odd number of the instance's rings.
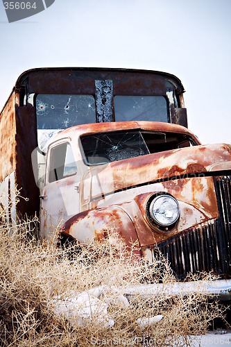
[[[164,96],[114,96],[116,121],[169,121]]]

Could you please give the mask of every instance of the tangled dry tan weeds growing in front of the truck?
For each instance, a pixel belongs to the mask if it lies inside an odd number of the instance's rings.
[[[31,225],[31,224],[30,224]],[[76,319],[56,314],[51,302],[57,296],[80,293],[92,287],[126,287],[162,278],[173,282],[164,260],[152,267],[132,262],[109,243],[83,248],[76,256],[56,248],[52,242],[39,244],[28,237],[28,223],[15,227],[9,236],[0,226],[0,345],[1,346],[190,346],[187,336],[203,334],[223,311],[202,295],[177,298],[136,297],[126,306],[107,291],[101,300],[114,321],[105,328],[97,319],[78,325]],[[31,234],[33,232],[31,231]],[[115,256],[116,255],[116,256]],[[153,270],[154,269],[154,270]],[[137,319],[162,314],[152,326],[140,326]],[[179,336],[185,337],[176,342]]]

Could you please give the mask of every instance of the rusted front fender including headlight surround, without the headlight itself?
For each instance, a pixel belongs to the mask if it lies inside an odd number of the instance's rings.
[[[204,178],[199,178],[204,180]],[[207,181],[207,178],[205,178]],[[158,187],[160,187],[160,183]],[[205,192],[209,186],[202,185]],[[157,191],[160,191],[157,189]],[[160,232],[146,217],[146,203],[155,191],[139,194],[121,204],[114,204],[103,208],[96,208],[80,212],[65,222],[60,229],[62,235],[76,239],[80,244],[89,244],[92,240],[103,242],[109,239],[110,244],[117,244],[121,249],[127,248],[133,254],[144,254],[142,246],[151,246],[162,242],[178,233],[203,223],[209,219],[218,217],[216,208],[216,196],[211,198],[213,208],[204,214],[205,206],[209,207],[208,201],[203,201],[195,208],[189,201],[178,200],[180,205],[180,219],[174,228],[168,232]],[[208,192],[209,193],[209,192]],[[205,196],[203,196],[205,197]],[[120,242],[121,241],[121,242]]]

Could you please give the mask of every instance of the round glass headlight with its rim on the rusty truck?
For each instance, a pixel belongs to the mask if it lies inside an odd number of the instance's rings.
[[[151,222],[154,222],[157,226],[165,227],[165,230],[169,230],[169,227],[174,226],[180,217],[178,201],[164,192],[154,194],[154,198],[152,196],[147,209]]]

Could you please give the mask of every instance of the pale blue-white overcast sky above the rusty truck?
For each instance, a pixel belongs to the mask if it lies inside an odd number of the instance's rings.
[[[166,71],[185,87],[189,128],[203,143],[231,143],[231,0],[55,0],[8,23],[0,3],[3,107],[34,67]]]

